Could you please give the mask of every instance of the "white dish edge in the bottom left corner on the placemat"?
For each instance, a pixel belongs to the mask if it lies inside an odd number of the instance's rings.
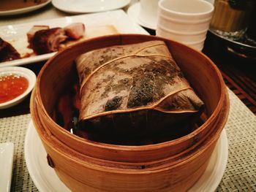
[[[8,192],[12,183],[13,143],[0,143],[0,191]]]

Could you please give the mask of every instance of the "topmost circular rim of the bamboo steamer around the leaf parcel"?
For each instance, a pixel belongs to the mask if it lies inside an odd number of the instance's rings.
[[[45,71],[45,69],[48,68],[48,66],[52,63],[52,61],[54,61],[56,58],[59,58],[59,56],[69,50],[72,49],[72,47],[78,46],[78,45],[83,45],[86,42],[94,42],[94,41],[100,41],[101,39],[108,39],[108,38],[115,38],[115,39],[119,39],[119,42],[123,42],[123,38],[140,38],[143,39],[146,37],[150,37],[150,39],[146,40],[146,41],[151,41],[151,40],[162,40],[164,42],[171,42],[173,44],[177,44],[181,47],[186,47],[189,50],[192,50],[195,54],[199,54],[201,56],[203,56],[203,58],[206,58],[206,60],[208,61],[208,64],[210,64],[211,69],[214,70],[214,72],[216,72],[217,74],[217,81],[218,84],[220,85],[220,96],[219,96],[219,101],[217,104],[217,107],[215,108],[214,112],[212,112],[211,116],[206,120],[205,123],[203,123],[202,126],[198,127],[195,131],[192,131],[191,133],[185,135],[184,137],[179,137],[178,139],[173,139],[167,142],[160,142],[157,144],[151,144],[151,145],[140,145],[140,146],[134,146],[134,145],[112,145],[112,144],[105,144],[105,143],[101,143],[101,142],[94,142],[91,141],[89,139],[84,139],[82,137],[78,137],[75,134],[71,134],[69,131],[65,130],[64,128],[62,128],[61,126],[59,126],[52,118],[50,118],[50,115],[48,115],[48,112],[45,110],[44,105],[42,104],[42,98],[41,98],[41,94],[40,94],[40,83],[41,83],[41,77],[43,72]],[[146,42],[146,41],[141,41],[141,42]],[[116,45],[120,45],[120,44],[116,44]],[[123,44],[121,44],[123,45]],[[128,45],[128,44],[127,44]],[[107,45],[105,47],[110,47],[113,45]],[[88,50],[90,51],[90,50]],[[170,40],[170,39],[165,39],[162,37],[154,37],[154,36],[149,36],[149,35],[143,35],[143,34],[116,34],[116,35],[108,35],[108,36],[103,36],[103,37],[95,37],[95,38],[91,38],[91,39],[87,39],[84,42],[79,42],[76,45],[71,45],[69,47],[67,47],[64,50],[61,50],[59,53],[57,53],[56,55],[54,55],[52,58],[50,58],[46,64],[44,66],[42,66],[41,71],[38,74],[37,77],[37,84],[36,84],[36,88],[37,88],[37,99],[39,101],[39,106],[42,108],[42,111],[44,112],[44,114],[46,115],[46,118],[48,118],[48,120],[50,120],[51,123],[53,123],[54,126],[59,128],[59,131],[61,131],[61,134],[64,134],[68,137],[72,137],[72,139],[75,139],[78,142],[85,142],[86,145],[91,145],[92,147],[104,147],[106,150],[124,150],[124,151],[140,151],[140,150],[157,150],[158,148],[162,148],[164,146],[170,146],[173,144],[178,144],[181,142],[186,141],[189,138],[195,137],[197,134],[199,134],[201,131],[204,130],[204,128],[206,128],[206,126],[208,125],[208,123],[211,123],[211,121],[215,118],[217,118],[217,115],[219,114],[219,112],[222,110],[222,105],[225,101],[225,96],[226,96],[226,87],[225,87],[225,82],[222,79],[222,74],[219,72],[219,69],[217,68],[217,66],[213,63],[213,61],[211,61],[210,58],[208,58],[206,55],[204,55],[203,53],[201,53],[200,51],[197,51],[191,47],[187,47],[186,45],[182,45],[179,42]]]

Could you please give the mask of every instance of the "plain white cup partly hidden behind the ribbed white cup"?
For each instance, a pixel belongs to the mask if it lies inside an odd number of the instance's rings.
[[[157,27],[157,7],[159,0],[140,0],[139,20],[148,28]]]

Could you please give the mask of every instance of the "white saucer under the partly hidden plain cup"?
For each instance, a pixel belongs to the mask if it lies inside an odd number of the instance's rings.
[[[157,28],[157,18],[140,18],[140,2],[132,4],[127,9],[127,14],[135,23],[140,24],[140,26],[156,30]]]

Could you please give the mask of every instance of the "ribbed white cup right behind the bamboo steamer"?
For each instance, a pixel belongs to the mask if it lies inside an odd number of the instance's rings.
[[[202,50],[213,11],[204,0],[159,0],[156,34]]]

